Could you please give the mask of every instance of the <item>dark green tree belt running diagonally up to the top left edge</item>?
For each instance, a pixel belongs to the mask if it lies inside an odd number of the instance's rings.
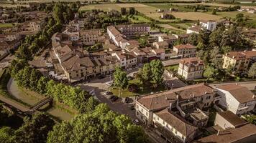
[[[53,7],[52,15],[45,19],[43,29],[36,35],[26,36],[21,46],[19,46],[16,56],[19,59],[31,60],[32,55],[37,54],[47,44],[50,44],[51,37],[63,28],[63,24],[74,19],[74,14],[78,7],[73,4],[68,6],[63,3],[56,3]]]

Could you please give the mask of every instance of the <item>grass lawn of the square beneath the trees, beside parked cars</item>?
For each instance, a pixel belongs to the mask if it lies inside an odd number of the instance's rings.
[[[165,91],[165,85],[161,84],[159,87],[153,89],[150,86],[143,86],[140,84],[140,82],[137,79],[132,79],[129,81],[129,84],[137,84],[137,86],[140,88],[138,93],[134,92],[129,92],[128,89],[123,89],[120,97],[134,97],[137,94],[150,94],[151,92],[161,92]],[[119,89],[118,87],[110,87],[109,91],[113,92],[114,95],[118,96],[119,95]]]

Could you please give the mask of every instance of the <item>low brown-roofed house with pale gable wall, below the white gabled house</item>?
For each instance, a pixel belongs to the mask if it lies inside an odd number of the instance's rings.
[[[222,129],[242,127],[244,124],[247,124],[247,122],[229,110],[217,112],[214,120],[214,125],[218,125]]]

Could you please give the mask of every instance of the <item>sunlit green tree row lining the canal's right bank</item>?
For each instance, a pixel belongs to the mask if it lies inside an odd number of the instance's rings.
[[[29,67],[24,60],[12,61],[9,73],[20,87],[53,97],[55,101],[64,103],[79,112],[88,111],[87,102],[91,97],[88,92],[79,87],[72,87],[47,79],[40,71]],[[96,102],[92,100],[90,104],[96,104]]]

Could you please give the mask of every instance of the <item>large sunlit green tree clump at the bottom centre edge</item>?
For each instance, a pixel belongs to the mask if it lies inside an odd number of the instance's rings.
[[[132,124],[127,116],[112,112],[106,104],[99,104],[87,114],[55,125],[47,142],[144,143],[147,136],[142,127]]]

